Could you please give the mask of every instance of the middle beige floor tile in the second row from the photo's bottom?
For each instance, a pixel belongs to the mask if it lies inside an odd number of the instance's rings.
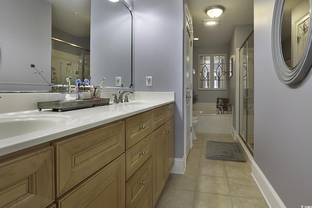
[[[223,195],[230,194],[227,178],[208,175],[198,175],[196,191]]]

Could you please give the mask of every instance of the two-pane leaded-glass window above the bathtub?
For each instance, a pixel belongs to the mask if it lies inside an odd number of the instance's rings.
[[[198,89],[226,90],[225,54],[206,54],[198,56]]]

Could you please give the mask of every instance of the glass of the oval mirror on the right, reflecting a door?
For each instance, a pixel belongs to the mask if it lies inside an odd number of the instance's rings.
[[[305,49],[310,26],[309,0],[285,0],[281,25],[282,53],[292,70]]]

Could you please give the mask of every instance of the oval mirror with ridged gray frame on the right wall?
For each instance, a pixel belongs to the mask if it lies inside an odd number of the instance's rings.
[[[281,82],[297,84],[312,66],[311,0],[276,0],[272,24],[275,71]]]

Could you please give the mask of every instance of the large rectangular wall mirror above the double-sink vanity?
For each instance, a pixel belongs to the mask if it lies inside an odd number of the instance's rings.
[[[126,0],[1,0],[0,92],[51,92],[69,76],[133,86],[133,22]]]

